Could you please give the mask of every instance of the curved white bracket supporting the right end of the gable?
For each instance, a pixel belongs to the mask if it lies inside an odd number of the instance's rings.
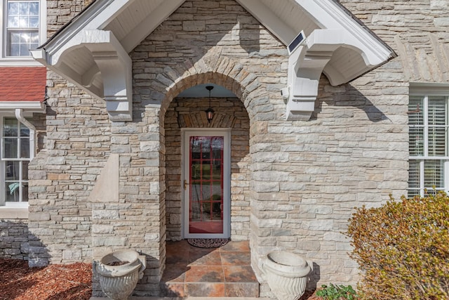
[[[328,76],[334,86],[344,84],[384,63],[391,56],[380,59],[375,51],[361,47],[361,42],[344,29],[314,30],[304,39],[288,58],[288,87],[283,96],[286,100],[286,119],[307,121],[315,110],[321,73]],[[361,56],[364,65],[347,70],[344,74],[328,63],[335,51],[347,47],[348,53]],[[372,65],[375,63],[376,65]]]

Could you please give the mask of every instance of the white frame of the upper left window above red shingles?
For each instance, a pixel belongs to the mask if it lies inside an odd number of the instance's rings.
[[[6,56],[6,2],[0,0],[0,66],[38,66],[32,56]],[[47,1],[39,0],[39,45],[47,39]]]

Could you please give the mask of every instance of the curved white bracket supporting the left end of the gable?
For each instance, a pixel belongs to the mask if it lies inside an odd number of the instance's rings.
[[[64,60],[68,53],[79,47],[86,47],[95,61],[95,65],[84,74],[73,70]],[[53,55],[48,55],[44,50],[32,51],[32,55],[91,96],[106,100],[107,112],[112,121],[133,119],[133,63],[112,32],[81,30]],[[98,74],[102,78],[102,90],[92,85]]]

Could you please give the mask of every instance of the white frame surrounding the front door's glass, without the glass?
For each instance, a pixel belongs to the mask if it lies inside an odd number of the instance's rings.
[[[223,136],[223,233],[188,233],[189,230],[189,188],[184,188],[189,180],[189,138],[190,136]],[[228,238],[231,236],[231,129],[183,128],[181,129],[181,207],[183,238]]]

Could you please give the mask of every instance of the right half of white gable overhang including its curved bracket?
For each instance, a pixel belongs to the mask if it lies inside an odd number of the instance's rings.
[[[284,44],[290,44],[297,35],[297,32],[291,32],[286,22],[270,15],[271,11],[260,0],[237,1]],[[290,53],[288,86],[282,91],[286,100],[286,119],[306,121],[314,112],[322,73],[326,74],[333,86],[345,84],[382,65],[395,54],[335,1],[295,0],[295,4],[319,27]],[[332,60],[344,59],[335,56],[337,50],[343,50],[347,56],[361,58],[360,63],[344,72],[340,71],[342,68],[330,63]]]

